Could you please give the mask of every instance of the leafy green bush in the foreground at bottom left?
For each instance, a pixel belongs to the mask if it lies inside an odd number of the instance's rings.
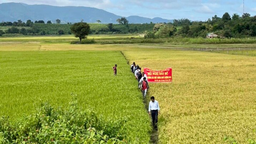
[[[119,134],[124,123],[105,121],[94,111],[81,111],[73,95],[67,110],[42,103],[37,113],[14,123],[1,117],[0,143],[127,143]]]

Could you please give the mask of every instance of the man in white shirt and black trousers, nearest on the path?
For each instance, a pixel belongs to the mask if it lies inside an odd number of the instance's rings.
[[[152,117],[152,124],[154,126],[154,129],[157,130],[157,121],[158,121],[158,114],[160,114],[160,107],[158,104],[158,101],[155,100],[154,96],[151,96],[151,101],[148,105],[148,114],[151,114]]]

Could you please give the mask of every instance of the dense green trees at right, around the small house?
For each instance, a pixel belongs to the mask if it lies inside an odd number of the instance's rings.
[[[207,21],[191,21],[189,19],[174,20],[173,23],[156,24],[152,32],[145,38],[166,38],[171,36],[206,38],[207,33],[217,34],[220,38],[245,38],[256,36],[256,16],[248,13],[242,16],[225,13]]]

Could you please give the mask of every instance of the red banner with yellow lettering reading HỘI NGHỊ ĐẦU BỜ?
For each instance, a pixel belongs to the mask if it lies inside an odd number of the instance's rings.
[[[144,73],[147,75],[149,83],[172,82],[172,68],[165,70],[150,70],[144,68]]]

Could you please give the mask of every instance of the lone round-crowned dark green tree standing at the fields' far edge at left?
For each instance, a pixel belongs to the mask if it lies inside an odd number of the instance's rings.
[[[90,26],[87,23],[75,23],[70,27],[70,30],[73,34],[75,34],[76,38],[79,38],[80,41],[85,39],[87,35],[90,33]]]

